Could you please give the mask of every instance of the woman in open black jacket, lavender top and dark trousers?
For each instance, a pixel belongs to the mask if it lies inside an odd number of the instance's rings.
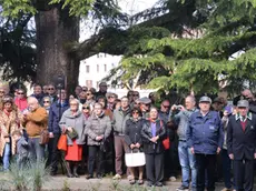
[[[163,140],[166,138],[166,128],[158,118],[157,108],[149,111],[149,119],[144,122],[141,130],[144,152],[146,155],[146,173],[148,187],[163,187],[164,179],[164,152]]]

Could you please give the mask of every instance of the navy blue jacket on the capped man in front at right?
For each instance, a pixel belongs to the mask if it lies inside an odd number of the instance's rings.
[[[223,148],[223,124],[218,112],[209,111],[205,117],[200,111],[190,115],[187,129],[187,144],[195,153],[216,154]]]

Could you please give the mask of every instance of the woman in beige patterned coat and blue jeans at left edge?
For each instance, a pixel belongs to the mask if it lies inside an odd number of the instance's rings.
[[[16,153],[16,142],[11,139],[11,134],[19,129],[22,114],[17,109],[13,99],[8,96],[2,98],[0,109],[0,155],[3,170],[7,171],[10,165],[10,155]]]

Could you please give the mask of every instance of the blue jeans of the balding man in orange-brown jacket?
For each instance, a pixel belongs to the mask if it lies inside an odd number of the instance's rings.
[[[40,138],[29,138],[29,159],[41,162],[45,160],[45,145],[39,144]]]

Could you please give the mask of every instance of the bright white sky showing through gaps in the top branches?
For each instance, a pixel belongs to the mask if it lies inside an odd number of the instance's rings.
[[[152,7],[158,0],[118,0],[121,10],[130,16]],[[81,22],[80,40],[83,41],[93,33],[93,26]]]

